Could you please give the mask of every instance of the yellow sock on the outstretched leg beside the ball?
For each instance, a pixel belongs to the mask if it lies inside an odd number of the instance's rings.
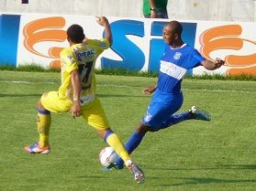
[[[116,153],[123,159],[123,161],[127,161],[130,159],[128,152],[126,151],[124,144],[120,141],[117,134],[111,133],[106,138],[106,143],[108,143]]]

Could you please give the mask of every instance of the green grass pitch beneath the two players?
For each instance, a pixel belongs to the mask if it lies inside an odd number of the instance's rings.
[[[97,77],[112,129],[125,142],[145,113],[149,96],[143,87],[156,79]],[[58,90],[60,74],[0,71],[0,190],[256,190],[256,82],[184,80],[184,105],[212,113],[211,122],[187,121],[148,133],[132,154],[146,175],[137,185],[127,169],[102,172],[98,162],[106,143],[83,119],[52,114],[51,153],[27,154],[38,140],[37,101]]]

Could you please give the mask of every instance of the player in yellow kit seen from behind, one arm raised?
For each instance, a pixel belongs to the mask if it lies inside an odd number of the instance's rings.
[[[61,87],[42,95],[38,104],[39,142],[26,146],[29,154],[49,154],[50,112],[71,112],[72,117],[82,116],[93,126],[117,154],[125,161],[128,170],[138,183],[144,175],[135,164],[123,143],[107,122],[105,111],[95,96],[95,60],[112,43],[111,29],[105,16],[96,16],[97,23],[106,30],[100,40],[86,39],[83,27],[72,25],[67,30],[70,48],[61,51]]]

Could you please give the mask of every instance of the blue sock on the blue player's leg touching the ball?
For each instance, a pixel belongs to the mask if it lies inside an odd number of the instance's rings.
[[[125,148],[128,151],[128,154],[131,154],[139,146],[139,143],[141,143],[144,135],[145,134],[140,134],[138,132],[134,132],[131,134],[128,142],[125,144]],[[122,169],[124,167],[124,161],[120,157],[117,158],[116,163],[119,169]]]

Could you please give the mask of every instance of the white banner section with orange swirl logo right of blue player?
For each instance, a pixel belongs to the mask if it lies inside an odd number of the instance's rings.
[[[256,76],[256,24],[228,22],[199,22],[195,48],[205,58],[222,58],[226,66],[214,73]],[[210,73],[198,67],[194,74]]]

